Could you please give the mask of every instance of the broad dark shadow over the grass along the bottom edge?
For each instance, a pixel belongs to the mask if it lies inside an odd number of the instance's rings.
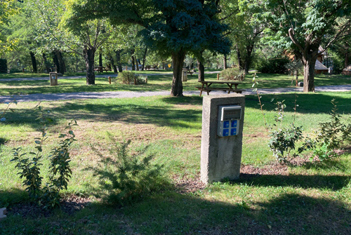
[[[15,205],[13,205],[15,206]],[[267,201],[225,203],[166,192],[123,208],[92,203],[69,215],[11,215],[1,234],[350,234],[351,211],[343,202],[280,194]],[[11,226],[12,225],[12,226]],[[14,226],[15,225],[15,226]]]

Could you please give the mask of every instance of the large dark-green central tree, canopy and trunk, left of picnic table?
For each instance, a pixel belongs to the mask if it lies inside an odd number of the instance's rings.
[[[217,18],[219,0],[88,0],[77,3],[73,20],[108,17],[112,24],[143,26],[145,43],[173,60],[171,95],[183,95],[182,69],[186,53],[209,49],[227,53],[223,25]]]

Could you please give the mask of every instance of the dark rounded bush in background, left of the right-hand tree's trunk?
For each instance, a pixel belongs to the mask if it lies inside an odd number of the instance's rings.
[[[289,62],[288,58],[282,58],[281,56],[268,60],[261,58],[261,60],[256,63],[256,69],[258,72],[265,74],[285,74],[285,65]]]

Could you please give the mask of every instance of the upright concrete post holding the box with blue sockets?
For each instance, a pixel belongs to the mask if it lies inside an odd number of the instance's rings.
[[[229,111],[223,112],[223,114],[220,112],[221,116],[218,116],[219,109],[223,111],[223,107]],[[241,114],[238,112],[239,108]],[[239,178],[244,109],[244,95],[235,93],[204,96],[202,105],[201,181],[205,184],[220,181],[225,177],[230,180]],[[220,137],[218,133],[220,133],[222,123],[227,126],[224,126],[225,130],[222,130],[221,135],[223,137]]]

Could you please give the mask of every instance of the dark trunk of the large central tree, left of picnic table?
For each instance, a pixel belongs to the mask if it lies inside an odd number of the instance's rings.
[[[171,88],[171,96],[183,96],[182,72],[185,51],[181,50],[177,53],[172,53],[173,61],[173,81]]]

